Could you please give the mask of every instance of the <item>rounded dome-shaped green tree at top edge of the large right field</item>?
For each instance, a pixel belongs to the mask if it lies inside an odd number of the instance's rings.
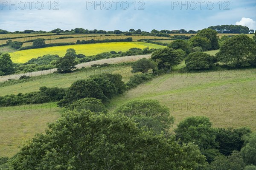
[[[209,54],[194,52],[185,59],[187,70],[207,70],[212,68],[213,59]]]

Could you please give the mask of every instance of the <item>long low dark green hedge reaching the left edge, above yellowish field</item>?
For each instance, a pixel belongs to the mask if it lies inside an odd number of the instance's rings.
[[[65,95],[64,88],[47,88],[41,87],[40,91],[31,92],[17,95],[11,94],[6,96],[0,96],[1,107],[25,105],[25,104],[39,104],[46,102],[56,102],[63,99]]]

